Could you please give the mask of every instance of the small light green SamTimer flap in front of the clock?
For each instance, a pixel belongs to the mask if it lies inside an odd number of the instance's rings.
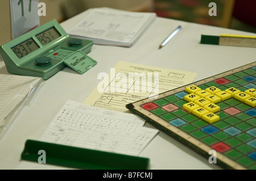
[[[80,51],[76,51],[71,56],[65,58],[64,63],[80,74],[85,73],[85,71],[97,64],[95,60]]]

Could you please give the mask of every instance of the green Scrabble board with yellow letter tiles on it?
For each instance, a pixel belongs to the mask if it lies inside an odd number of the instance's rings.
[[[255,106],[256,62],[126,105],[224,169],[253,170]]]

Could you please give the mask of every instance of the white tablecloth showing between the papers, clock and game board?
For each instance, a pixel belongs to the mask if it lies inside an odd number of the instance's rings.
[[[79,22],[83,13],[61,26],[67,31]],[[181,31],[162,49],[159,44],[177,26]],[[5,136],[0,140],[0,169],[15,169],[20,164],[24,142],[37,140],[56,113],[68,100],[84,102],[100,80],[97,75],[109,73],[118,61],[134,62],[161,68],[197,73],[195,81],[237,68],[256,59],[255,48],[225,47],[200,44],[201,34],[221,33],[255,35],[254,33],[205,26],[166,18],[156,18],[148,30],[131,48],[93,45],[88,54],[98,62],[93,69],[80,75],[65,68],[44,82],[31,106],[26,106],[16,117]],[[0,59],[0,73],[8,74]],[[151,125],[147,125],[151,127]],[[160,132],[143,150],[141,157],[150,158],[150,169],[221,169],[210,164],[187,146]],[[24,162],[24,161],[23,161]]]

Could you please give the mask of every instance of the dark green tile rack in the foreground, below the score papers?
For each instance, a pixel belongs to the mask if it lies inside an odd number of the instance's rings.
[[[108,170],[146,170],[148,158],[115,154],[72,146],[51,144],[48,142],[27,140],[21,158],[38,162],[44,150],[46,164],[72,167],[75,169],[108,169]]]

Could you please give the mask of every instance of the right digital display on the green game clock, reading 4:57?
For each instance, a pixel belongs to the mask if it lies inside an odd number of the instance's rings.
[[[40,41],[40,43],[42,43],[42,45],[46,45],[60,36],[60,33],[55,29],[55,27],[52,27],[39,35],[36,35],[36,38]]]

